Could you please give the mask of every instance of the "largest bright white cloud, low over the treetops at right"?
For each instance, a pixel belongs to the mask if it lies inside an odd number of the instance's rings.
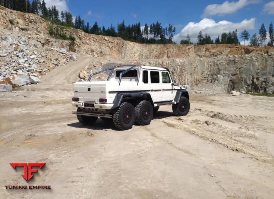
[[[237,29],[238,33],[241,33],[244,29],[254,30],[256,18],[244,19],[240,23],[232,23],[229,21],[215,22],[213,19],[202,19],[200,22],[189,22],[180,31],[179,34],[174,36],[174,41],[177,40],[179,43],[182,39],[186,39],[187,34],[190,34],[191,41],[193,43],[197,42],[197,35],[201,30],[203,35],[206,33],[210,35],[212,39],[215,40],[218,35],[221,36],[223,32],[229,32]]]

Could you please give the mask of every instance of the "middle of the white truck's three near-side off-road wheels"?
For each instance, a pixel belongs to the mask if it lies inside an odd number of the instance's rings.
[[[135,107],[135,124],[148,125],[153,119],[153,106],[149,101],[143,100]]]

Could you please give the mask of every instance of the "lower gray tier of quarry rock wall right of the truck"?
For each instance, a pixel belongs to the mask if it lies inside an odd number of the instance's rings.
[[[274,92],[274,55],[152,59],[139,62],[147,66],[167,67],[178,85],[189,85],[191,88],[210,84],[211,90]]]

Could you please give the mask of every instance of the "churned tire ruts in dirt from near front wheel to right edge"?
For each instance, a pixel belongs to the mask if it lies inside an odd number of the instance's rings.
[[[273,156],[267,149],[235,138],[242,136],[256,139],[255,134],[249,134],[244,129],[242,129],[242,133],[239,133],[237,129],[223,127],[220,124],[209,121],[191,120],[189,117],[186,116],[184,119],[181,117],[177,119],[165,118],[162,122],[169,127],[186,130],[191,134],[197,135],[199,138],[221,144],[232,151],[251,155],[263,162],[273,162]],[[248,136],[244,136],[245,133]]]

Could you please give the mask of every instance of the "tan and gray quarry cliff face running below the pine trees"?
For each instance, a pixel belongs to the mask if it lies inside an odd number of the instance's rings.
[[[34,47],[59,47],[69,50],[68,40],[50,37],[50,23],[39,16],[0,6],[0,51],[13,37],[25,36]],[[86,56],[123,58],[143,65],[167,67],[179,84],[209,86],[218,90],[274,92],[274,48],[241,45],[149,45],[121,38],[65,29],[76,37],[73,48]],[[7,35],[9,35],[7,37]],[[2,43],[1,43],[2,42]],[[3,43],[4,42],[4,43]]]

